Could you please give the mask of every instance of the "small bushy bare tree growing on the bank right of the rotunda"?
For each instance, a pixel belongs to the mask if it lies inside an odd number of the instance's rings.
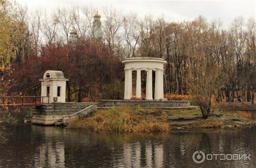
[[[189,64],[187,84],[192,92],[197,95],[197,104],[201,109],[203,118],[208,118],[211,113],[211,98],[215,90],[223,86],[219,66],[210,56],[201,55],[193,58],[193,64]]]

